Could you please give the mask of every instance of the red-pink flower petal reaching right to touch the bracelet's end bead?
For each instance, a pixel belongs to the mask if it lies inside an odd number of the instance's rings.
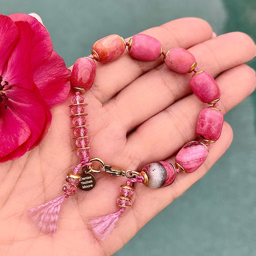
[[[34,71],[34,82],[49,108],[64,102],[70,91],[71,71],[53,51],[51,57]]]

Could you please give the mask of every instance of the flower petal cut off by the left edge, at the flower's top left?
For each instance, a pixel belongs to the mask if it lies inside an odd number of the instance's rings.
[[[0,75],[19,38],[14,22],[0,14]]]

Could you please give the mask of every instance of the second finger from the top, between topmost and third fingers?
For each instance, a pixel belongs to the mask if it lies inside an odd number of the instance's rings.
[[[255,56],[254,42],[241,32],[218,36],[188,50],[196,57],[199,69],[212,76]],[[190,78],[191,74],[178,74],[162,64],[133,81],[105,106],[129,132],[176,100],[190,94]]]

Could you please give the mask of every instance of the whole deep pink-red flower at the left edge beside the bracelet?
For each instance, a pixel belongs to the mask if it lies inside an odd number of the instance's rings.
[[[38,145],[50,108],[70,91],[70,70],[53,51],[47,29],[27,14],[0,14],[0,162]]]

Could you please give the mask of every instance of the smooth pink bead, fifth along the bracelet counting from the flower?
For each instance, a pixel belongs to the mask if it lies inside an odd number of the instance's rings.
[[[209,103],[220,98],[221,91],[215,79],[206,72],[191,77],[190,87],[199,100]]]

